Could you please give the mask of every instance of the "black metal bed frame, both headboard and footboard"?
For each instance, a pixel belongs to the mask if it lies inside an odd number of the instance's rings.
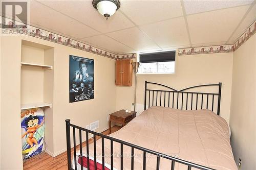
[[[159,86],[162,86],[162,87],[166,87],[167,89],[170,89],[170,90],[157,90],[157,89],[147,89],[147,84],[155,84],[155,85],[159,85]],[[146,109],[146,103],[147,103],[147,96],[148,96],[148,107],[151,106],[151,91],[153,91],[152,95],[153,95],[153,100],[152,100],[152,106],[162,106],[162,93],[163,93],[163,96],[164,96],[164,104],[163,106],[166,107],[166,94],[168,94],[168,107],[172,107],[172,108],[175,108],[174,106],[174,101],[176,101],[175,99],[177,99],[176,103],[176,108],[178,109],[183,109],[183,103],[184,103],[184,99],[185,99],[185,105],[186,105],[186,110],[191,110],[193,109],[193,94],[196,95],[196,109],[198,109],[198,97],[199,95],[201,95],[201,109],[203,109],[203,96],[206,95],[207,96],[207,105],[206,105],[206,109],[208,109],[208,102],[209,102],[209,95],[212,95],[213,97],[211,98],[212,99],[212,108],[211,110],[213,111],[214,110],[214,96],[215,95],[218,95],[218,108],[217,108],[217,114],[220,115],[220,101],[221,101],[221,85],[222,83],[219,83],[219,84],[208,84],[208,85],[199,85],[199,86],[193,86],[193,87],[189,87],[189,88],[185,88],[185,89],[182,89],[182,90],[175,90],[174,88],[171,88],[171,87],[168,87],[168,86],[165,86],[165,85],[162,85],[162,84],[158,84],[158,83],[153,83],[153,82],[147,82],[145,81],[145,93],[144,93],[144,110]],[[219,92],[218,93],[206,93],[206,92],[189,92],[189,91],[186,91],[188,89],[191,89],[191,88],[197,88],[197,87],[204,87],[204,86],[218,86],[219,87]],[[154,104],[154,93],[156,91],[156,102]],[[148,95],[147,95],[148,93]],[[160,93],[160,105],[158,105],[158,93]],[[173,93],[173,98],[172,98],[172,94]],[[179,107],[179,94],[181,94],[181,101],[182,101],[182,104],[181,104],[181,107]],[[186,96],[184,97],[184,94],[186,94]],[[187,103],[188,103],[188,94],[191,94],[191,107],[190,109],[187,107]],[[175,98],[174,96],[177,96],[177,98]],[[170,98],[171,100],[173,101],[173,103],[170,105]],[[143,151],[143,170],[146,169],[146,154],[153,154],[153,155],[156,155],[156,169],[159,170],[159,167],[160,167],[160,157],[161,158],[165,158],[165,159],[168,159],[171,161],[170,163],[170,169],[171,170],[174,170],[175,168],[175,163],[181,163],[181,164],[184,164],[184,165],[187,165],[187,169],[188,170],[191,170],[192,167],[194,168],[197,168],[197,169],[203,169],[203,170],[214,170],[210,167],[206,167],[206,166],[202,166],[202,165],[199,165],[199,164],[196,164],[196,163],[192,163],[192,162],[189,162],[189,161],[186,161],[186,160],[182,160],[182,159],[179,159],[179,158],[176,158],[176,157],[172,157],[172,156],[169,156],[169,155],[166,155],[166,154],[163,154],[163,153],[160,153],[160,152],[156,152],[156,151],[153,151],[153,150],[149,150],[149,149],[146,149],[146,148],[143,148],[143,147],[140,147],[138,145],[135,145],[135,144],[132,144],[132,143],[129,143],[129,142],[126,142],[126,141],[123,141],[123,140],[119,140],[119,139],[116,139],[116,138],[113,138],[113,137],[110,137],[110,136],[106,136],[106,135],[103,135],[101,133],[97,133],[97,132],[94,132],[94,131],[91,131],[91,130],[88,130],[88,129],[85,129],[85,128],[82,128],[82,127],[79,127],[79,126],[76,126],[76,125],[73,125],[70,123],[70,119],[66,119],[66,137],[67,137],[67,156],[68,156],[68,169],[72,169],[72,170],[76,170],[77,169],[77,161],[76,161],[76,129],[79,130],[79,150],[80,150],[80,157],[82,157],[83,153],[82,153],[82,133],[85,132],[86,133],[86,147],[87,147],[87,153],[86,153],[86,157],[87,157],[87,167],[88,169],[92,169],[90,168],[90,165],[89,165],[89,134],[93,134],[93,145],[94,145],[94,169],[97,170],[97,157],[96,157],[96,136],[99,136],[101,137],[101,143],[102,143],[102,147],[101,147],[101,158],[102,158],[102,169],[105,169],[105,165],[104,165],[104,140],[110,140],[110,144],[111,144],[111,170],[114,169],[114,165],[113,165],[113,162],[114,162],[114,156],[113,156],[113,142],[117,142],[117,143],[120,143],[120,170],[123,169],[123,145],[126,145],[128,147],[131,147],[131,169],[134,170],[134,149],[137,149],[137,150],[140,150],[140,151]],[[73,129],[73,151],[74,151],[74,161],[75,161],[75,169],[73,169],[71,167],[71,134],[70,134],[70,130],[71,130],[71,127]],[[83,160],[80,159],[81,162],[80,162],[80,166],[81,166],[81,169],[86,169],[86,167],[83,167]],[[137,170],[137,169],[136,169]]]

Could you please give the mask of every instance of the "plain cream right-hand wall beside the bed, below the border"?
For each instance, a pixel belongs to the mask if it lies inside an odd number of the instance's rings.
[[[233,53],[230,128],[234,158],[256,169],[256,34]]]

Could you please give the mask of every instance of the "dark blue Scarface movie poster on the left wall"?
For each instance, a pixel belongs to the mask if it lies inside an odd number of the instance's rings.
[[[69,56],[69,103],[94,98],[94,60]]]

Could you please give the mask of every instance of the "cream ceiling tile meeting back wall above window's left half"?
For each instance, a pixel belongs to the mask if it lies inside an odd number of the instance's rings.
[[[148,38],[138,28],[130,28],[106,34],[137,51],[159,48],[150,38]]]

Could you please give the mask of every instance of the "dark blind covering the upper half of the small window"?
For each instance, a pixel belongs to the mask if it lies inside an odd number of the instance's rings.
[[[175,61],[175,52],[176,51],[140,54],[140,62],[153,63]]]

